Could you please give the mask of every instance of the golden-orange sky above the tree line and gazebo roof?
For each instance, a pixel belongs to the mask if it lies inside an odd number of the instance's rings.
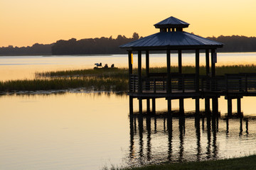
[[[207,36],[256,36],[255,0],[1,0],[0,47],[70,38],[151,35],[174,16],[185,31]]]

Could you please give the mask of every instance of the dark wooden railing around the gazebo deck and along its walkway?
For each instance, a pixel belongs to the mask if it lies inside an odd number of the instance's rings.
[[[142,77],[139,81],[137,74],[131,74],[129,79],[130,92],[158,93],[167,91],[196,91],[196,74],[171,74],[171,83],[167,87],[167,75],[151,74],[150,77]],[[141,89],[139,88],[141,86]],[[224,76],[199,77],[198,91],[255,91],[256,73],[225,74]]]

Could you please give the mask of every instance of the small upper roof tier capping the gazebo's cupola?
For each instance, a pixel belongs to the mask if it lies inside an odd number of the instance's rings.
[[[189,23],[179,20],[173,16],[166,18],[165,20],[156,23],[156,28],[188,28]]]

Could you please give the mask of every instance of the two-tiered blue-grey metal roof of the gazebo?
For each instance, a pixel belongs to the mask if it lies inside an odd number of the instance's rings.
[[[185,28],[188,23],[170,17],[156,23],[156,28]],[[164,27],[163,27],[164,26]],[[171,26],[171,27],[170,27]],[[166,30],[167,31],[167,30]],[[183,30],[155,33],[139,40],[128,42],[119,46],[128,50],[196,50],[196,49],[214,49],[223,47],[223,43],[208,40]]]

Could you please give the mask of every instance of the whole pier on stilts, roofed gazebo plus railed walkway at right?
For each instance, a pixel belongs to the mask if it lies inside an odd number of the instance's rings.
[[[195,110],[199,112],[199,98],[205,99],[206,111],[210,111],[210,99],[213,113],[218,113],[218,98],[225,96],[228,101],[228,113],[232,113],[232,100],[238,103],[238,113],[241,112],[241,98],[256,96],[256,73],[215,75],[217,63],[216,50],[223,47],[220,42],[208,40],[198,35],[186,33],[183,28],[188,23],[170,17],[156,23],[160,32],[140,38],[121,48],[127,49],[129,61],[129,108],[133,114],[133,98],[139,101],[139,113],[142,113],[142,100],[146,100],[146,111],[156,113],[156,98],[166,98],[168,113],[171,114],[171,100],[179,99],[180,111],[183,112],[184,98],[196,100]],[[150,51],[166,51],[166,72],[150,72]],[[195,52],[195,74],[182,73],[182,52]],[[137,73],[133,73],[133,52],[137,53]],[[178,53],[178,72],[171,72],[171,54]],[[199,74],[199,56],[206,56],[206,73]],[[142,75],[142,53],[146,55],[146,74]]]

